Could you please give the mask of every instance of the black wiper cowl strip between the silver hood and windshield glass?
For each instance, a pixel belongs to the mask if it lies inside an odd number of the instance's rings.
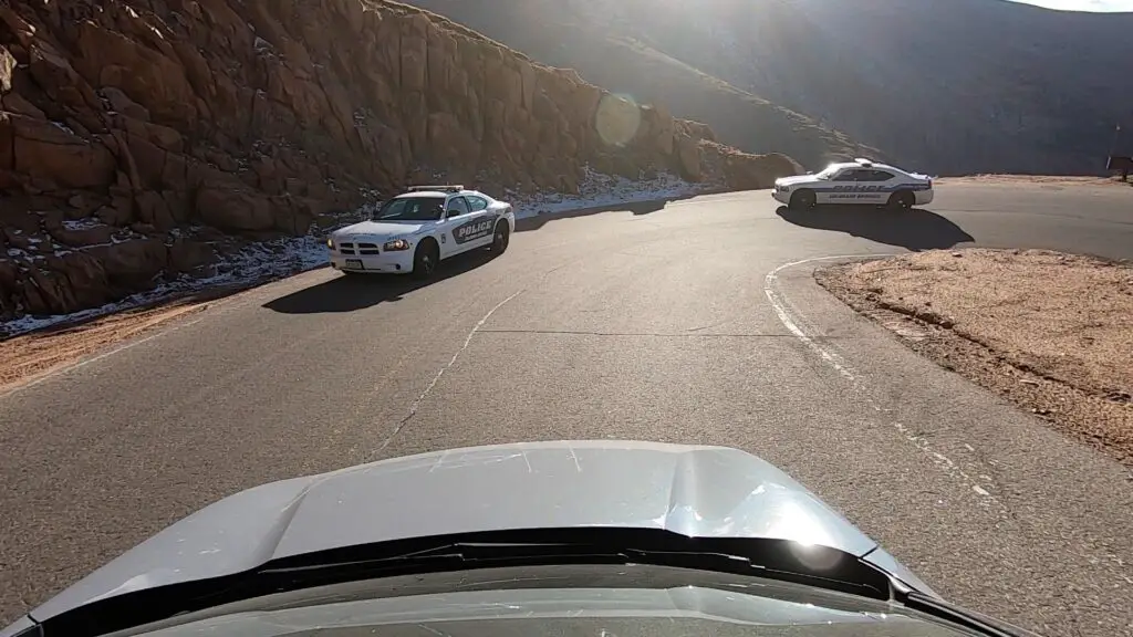
[[[101,635],[275,593],[403,575],[517,566],[645,564],[791,581],[879,601],[887,574],[837,549],[664,529],[509,529],[382,542],[272,560],[256,569],[102,598],[41,625],[44,637]],[[821,564],[818,567],[816,564]]]

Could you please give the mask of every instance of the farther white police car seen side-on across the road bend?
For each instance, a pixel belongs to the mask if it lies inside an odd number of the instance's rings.
[[[832,163],[818,175],[776,179],[772,197],[796,209],[871,204],[909,210],[932,202],[932,178],[859,159]]]

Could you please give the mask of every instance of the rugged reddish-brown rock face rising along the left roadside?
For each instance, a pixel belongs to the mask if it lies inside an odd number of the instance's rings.
[[[395,2],[3,2],[0,320],[199,274],[218,235],[303,235],[437,172],[491,193],[795,171],[713,139]]]

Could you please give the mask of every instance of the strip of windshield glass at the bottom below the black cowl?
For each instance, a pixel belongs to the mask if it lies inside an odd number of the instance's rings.
[[[145,635],[684,637],[966,635],[901,606],[809,586],[665,567],[564,564],[400,576],[278,594]]]

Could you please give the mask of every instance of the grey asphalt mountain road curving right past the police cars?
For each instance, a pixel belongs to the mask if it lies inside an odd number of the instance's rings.
[[[263,482],[611,438],[752,451],[962,604],[1133,634],[1130,473],[922,360],[806,261],[1131,257],[1133,188],[942,186],[905,215],[766,192],[630,207],[525,222],[424,287],[308,272],[0,397],[0,619]]]

